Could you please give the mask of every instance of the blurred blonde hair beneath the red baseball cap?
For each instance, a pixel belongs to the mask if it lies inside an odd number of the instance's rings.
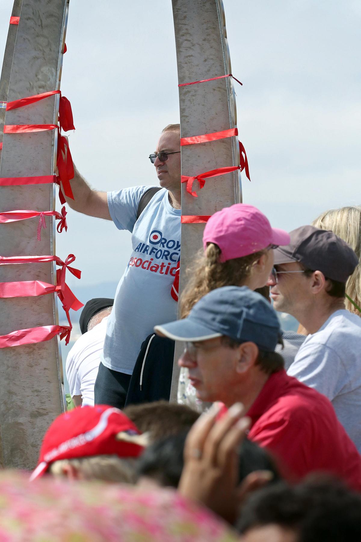
[[[134,461],[134,459],[121,459],[117,455],[61,459],[50,464],[49,472],[54,476],[64,476],[64,467],[71,465],[84,480],[135,483]]]

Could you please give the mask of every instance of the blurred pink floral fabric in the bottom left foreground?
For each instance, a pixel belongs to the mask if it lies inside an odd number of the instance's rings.
[[[211,512],[170,489],[0,473],[1,542],[234,542]]]

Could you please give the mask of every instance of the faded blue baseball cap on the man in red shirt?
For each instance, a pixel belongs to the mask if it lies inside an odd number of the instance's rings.
[[[282,336],[270,303],[246,286],[216,288],[194,305],[187,318],[155,326],[154,331],[189,342],[226,335],[239,342],[251,341],[266,352],[274,352]]]

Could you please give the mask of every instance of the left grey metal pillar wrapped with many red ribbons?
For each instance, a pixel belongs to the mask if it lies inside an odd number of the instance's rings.
[[[16,2],[15,2],[16,3]],[[69,0],[23,0],[8,85],[8,101],[60,88],[62,51]],[[18,3],[19,4],[19,3]],[[10,42],[3,73],[9,73]],[[5,81],[5,80],[4,80]],[[5,84],[5,83],[4,83]],[[59,95],[6,111],[5,125],[57,124]],[[4,133],[0,178],[53,176],[57,130]],[[0,186],[0,212],[55,209],[55,185]],[[55,217],[0,224],[1,256],[55,254]],[[63,256],[65,257],[65,256]],[[5,264],[0,282],[44,281],[56,284],[55,262]],[[58,324],[54,293],[0,299],[0,335]],[[4,467],[34,468],[42,437],[64,410],[58,337],[0,349],[0,434]]]

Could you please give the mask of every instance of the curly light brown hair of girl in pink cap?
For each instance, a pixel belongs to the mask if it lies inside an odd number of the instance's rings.
[[[248,276],[251,275],[252,267],[260,259],[266,250],[260,250],[247,256],[220,262],[221,249],[215,243],[209,243],[206,251],[194,268],[188,270],[191,279],[180,298],[181,318],[186,318],[204,295],[222,286],[242,286]]]

